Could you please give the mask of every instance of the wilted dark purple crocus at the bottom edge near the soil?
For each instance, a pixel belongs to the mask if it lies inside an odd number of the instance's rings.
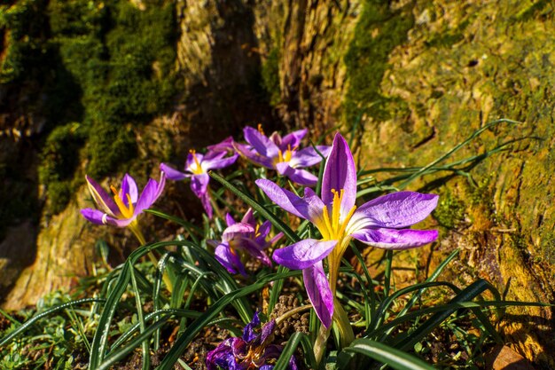
[[[258,312],[254,313],[253,320],[243,329],[240,338],[229,338],[221,342],[215,350],[207,353],[208,370],[271,370],[274,368],[269,363],[279,358],[283,348],[272,344],[273,331],[276,322],[272,319],[264,324],[259,334],[254,329],[260,326]],[[297,370],[295,358],[289,360],[290,370]]]

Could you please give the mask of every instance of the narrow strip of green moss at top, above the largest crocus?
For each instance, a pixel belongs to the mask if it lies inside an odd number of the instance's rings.
[[[379,0],[364,2],[354,38],[345,55],[349,85],[343,108],[348,125],[354,124],[362,114],[370,114],[378,120],[390,115],[388,98],[380,93],[379,85],[388,67],[389,53],[407,39],[413,23],[409,11],[393,11],[387,2]]]

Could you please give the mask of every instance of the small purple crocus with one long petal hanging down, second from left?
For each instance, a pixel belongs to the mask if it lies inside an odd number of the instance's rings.
[[[226,140],[229,140],[226,139]],[[207,154],[197,154],[194,150],[187,155],[185,161],[185,171],[181,172],[172,169],[166,163],[160,164],[160,169],[168,175],[170,180],[180,181],[184,178],[191,178],[191,190],[195,193],[197,198],[202,202],[202,207],[207,212],[208,218],[212,218],[212,205],[210,204],[210,194],[208,193],[208,182],[210,177],[208,171],[210,169],[223,169],[224,167],[231,166],[237,161],[238,154],[228,155],[225,149],[229,146],[224,140],[220,144],[216,144],[216,150],[208,151]]]

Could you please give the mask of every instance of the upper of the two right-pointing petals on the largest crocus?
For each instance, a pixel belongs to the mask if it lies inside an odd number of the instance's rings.
[[[379,226],[403,228],[424,220],[437,206],[438,195],[397,192],[380,196],[356,209],[357,228]],[[363,216],[364,219],[360,219]]]

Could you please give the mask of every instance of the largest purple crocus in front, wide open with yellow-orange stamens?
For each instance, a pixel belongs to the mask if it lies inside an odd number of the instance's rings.
[[[349,240],[355,238],[372,247],[407,249],[437,239],[435,230],[411,230],[437,206],[434,194],[398,192],[383,195],[356,208],[356,166],[347,142],[338,133],[325,164],[322,198],[310,188],[304,197],[282,189],[266,179],[256,180],[264,193],[278,206],[315,224],[321,240],[307,239],[277,249],[277,264],[302,270],[305,287],[318,318],[325,327],[332,324],[333,298],[340,259]],[[330,280],[322,261],[328,257]]]

